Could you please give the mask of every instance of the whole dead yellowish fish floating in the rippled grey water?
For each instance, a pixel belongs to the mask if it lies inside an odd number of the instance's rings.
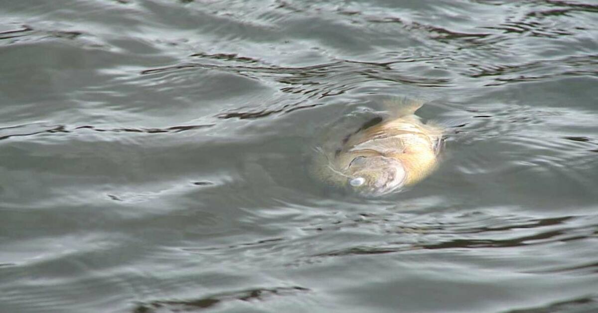
[[[385,101],[390,117],[377,117],[332,150],[318,147],[312,174],[325,183],[380,196],[411,186],[438,166],[443,129],[424,124],[415,112],[422,101]]]

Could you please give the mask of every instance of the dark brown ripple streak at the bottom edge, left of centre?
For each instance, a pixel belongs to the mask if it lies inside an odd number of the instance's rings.
[[[243,291],[233,291],[230,293],[215,294],[209,297],[203,297],[194,300],[158,300],[149,303],[140,303],[133,309],[133,313],[151,313],[162,312],[167,309],[171,312],[196,312],[210,309],[226,302],[237,300],[244,302],[265,301],[273,296],[294,296],[295,294],[311,291],[303,287],[275,287],[275,288],[255,288]]]

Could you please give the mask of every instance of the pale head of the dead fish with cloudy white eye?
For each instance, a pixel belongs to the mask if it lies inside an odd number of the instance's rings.
[[[407,176],[401,161],[385,156],[356,156],[347,168],[350,188],[380,196],[402,187]]]

